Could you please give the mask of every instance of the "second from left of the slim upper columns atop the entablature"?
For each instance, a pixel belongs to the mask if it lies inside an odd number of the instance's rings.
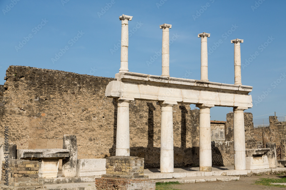
[[[162,24],[160,29],[163,29],[162,37],[162,75],[161,76],[170,76],[169,73],[169,64],[170,64],[170,43],[169,43],[169,28],[172,28],[171,24]]]

